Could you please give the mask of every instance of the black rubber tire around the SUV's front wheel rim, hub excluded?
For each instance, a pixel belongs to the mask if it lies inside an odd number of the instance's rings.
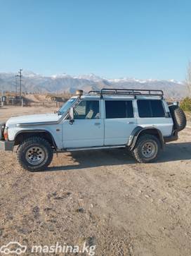
[[[31,147],[38,147],[43,151],[44,160],[39,164],[31,164],[27,161],[27,150]],[[18,162],[23,169],[28,171],[43,171],[49,164],[51,164],[52,159],[53,148],[47,140],[41,137],[27,138],[18,148]]]

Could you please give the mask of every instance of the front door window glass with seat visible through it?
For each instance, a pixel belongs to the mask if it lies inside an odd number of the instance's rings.
[[[74,119],[100,118],[100,104],[98,100],[82,100],[74,108]]]

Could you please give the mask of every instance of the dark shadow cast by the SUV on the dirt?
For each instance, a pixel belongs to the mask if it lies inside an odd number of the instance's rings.
[[[67,156],[65,154],[67,154]],[[58,154],[58,157],[66,157],[69,159],[67,159],[66,164],[50,166],[46,171],[68,171],[98,166],[136,164],[136,160],[131,157],[126,149],[67,152]],[[165,145],[164,151],[161,152],[159,159],[157,159],[157,163],[190,159],[191,142],[170,143]]]

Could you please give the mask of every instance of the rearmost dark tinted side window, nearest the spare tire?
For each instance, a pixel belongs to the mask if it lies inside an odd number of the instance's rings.
[[[165,111],[159,99],[138,99],[138,114],[140,117],[164,117]]]

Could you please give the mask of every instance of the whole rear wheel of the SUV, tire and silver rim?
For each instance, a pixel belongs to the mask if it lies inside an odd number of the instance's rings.
[[[141,135],[133,150],[133,157],[139,163],[148,163],[157,160],[160,151],[160,142],[154,135]]]

